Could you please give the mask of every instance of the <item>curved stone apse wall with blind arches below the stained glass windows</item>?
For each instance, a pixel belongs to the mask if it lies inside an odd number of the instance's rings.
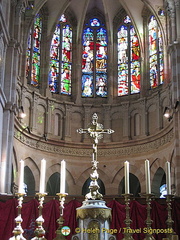
[[[150,160],[153,183],[157,169],[161,167],[165,171],[165,162],[173,158],[173,125],[163,117],[170,88],[170,85],[161,86],[147,97],[137,95],[136,99],[134,96],[132,100],[121,98],[121,102],[114,99],[111,104],[99,105],[96,101],[76,104],[45,97],[19,83],[17,104],[23,106],[26,118],[19,119],[16,115],[13,165],[25,160],[38,191],[40,160],[47,160],[47,183],[53,173],[60,172],[60,161],[65,159],[69,194],[81,195],[91,172],[92,143],[87,135],[77,133],[77,129],[87,128],[93,113],[97,113],[98,122],[115,131],[104,134],[98,144],[99,178],[105,185],[106,195],[119,194],[126,160],[130,162],[130,173],[138,178],[141,191],[145,192],[145,159]]]

